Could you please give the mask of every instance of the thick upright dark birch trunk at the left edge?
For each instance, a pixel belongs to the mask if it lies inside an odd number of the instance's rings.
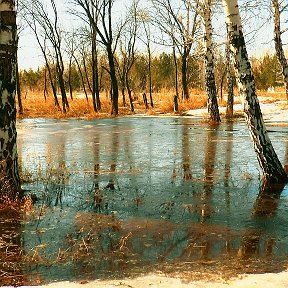
[[[17,29],[14,0],[0,1],[0,19],[0,193],[15,198],[21,188],[16,146]]]

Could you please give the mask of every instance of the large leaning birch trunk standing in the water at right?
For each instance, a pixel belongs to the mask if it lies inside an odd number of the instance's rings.
[[[285,183],[287,182],[287,174],[269,139],[256,95],[255,81],[248,59],[237,0],[222,0],[222,2],[239,93],[244,103],[246,121],[258,162],[263,171],[264,181],[268,183]]]

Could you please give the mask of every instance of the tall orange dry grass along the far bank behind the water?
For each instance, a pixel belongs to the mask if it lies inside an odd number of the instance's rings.
[[[54,104],[52,94],[48,95],[45,100],[43,92],[27,92],[25,97],[22,97],[23,103],[23,115],[19,117],[23,118],[105,118],[111,116],[111,102],[109,97],[105,93],[100,95],[102,109],[100,112],[95,113],[93,110],[92,98],[89,95],[88,101],[83,94],[74,93],[73,100],[68,97],[70,109],[63,113],[58,110]],[[286,99],[285,91],[277,90],[274,92],[258,91],[259,96],[267,97],[267,101],[284,100]],[[135,108],[134,113],[146,113],[148,115],[159,115],[159,114],[173,114],[174,113],[174,91],[163,89],[161,92],[153,93],[154,108],[152,109],[149,103],[149,95],[147,95],[149,109],[145,109],[143,96],[140,93],[133,95],[133,104]],[[68,96],[68,94],[67,94]],[[58,96],[58,100],[61,106],[61,97]],[[226,97],[222,100],[218,100],[220,106],[226,106]],[[239,103],[239,98],[235,98],[235,104]],[[123,106],[122,95],[119,95],[119,115],[133,114],[130,111],[130,105],[128,97],[126,96],[126,106]],[[207,96],[204,91],[191,89],[190,98],[188,100],[179,99],[179,114],[184,113],[187,110],[199,109],[207,107]]]

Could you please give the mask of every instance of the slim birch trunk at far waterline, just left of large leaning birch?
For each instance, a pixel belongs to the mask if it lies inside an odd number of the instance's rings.
[[[204,3],[204,43],[205,43],[205,82],[206,91],[208,96],[208,112],[210,115],[210,120],[213,122],[220,122],[218,101],[217,101],[217,89],[215,83],[215,73],[214,73],[214,55],[213,55],[213,42],[212,42],[212,21],[211,21],[211,0],[205,0]]]

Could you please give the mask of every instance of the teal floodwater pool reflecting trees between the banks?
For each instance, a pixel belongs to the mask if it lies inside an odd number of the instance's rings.
[[[268,130],[287,164],[288,127]],[[288,187],[280,197],[262,190],[244,121],[25,119],[18,150],[36,201],[17,225],[0,215],[0,233],[21,250],[4,276],[36,284],[286,267]]]

